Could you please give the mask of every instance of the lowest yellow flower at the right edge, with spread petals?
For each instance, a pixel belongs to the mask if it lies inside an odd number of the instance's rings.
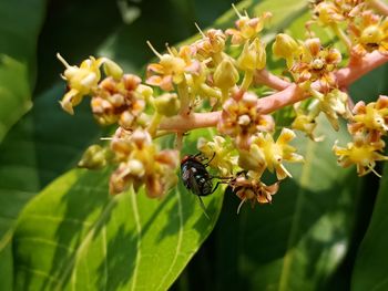
[[[348,143],[346,147],[333,146],[334,153],[338,156],[338,164],[346,168],[356,165],[358,176],[364,176],[375,172],[377,160],[388,160],[387,156],[380,154],[384,150],[385,143],[381,139],[371,141],[371,135],[356,134],[354,142]],[[379,153],[380,152],[380,153]]]

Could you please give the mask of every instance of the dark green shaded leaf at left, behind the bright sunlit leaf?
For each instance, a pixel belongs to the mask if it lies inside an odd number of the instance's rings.
[[[23,206],[41,189],[70,167],[95,138],[96,126],[90,110],[83,106],[75,117],[63,114],[54,95],[62,86],[49,91],[0,146],[0,289],[12,283],[12,232]],[[85,132],[76,131],[82,128]]]

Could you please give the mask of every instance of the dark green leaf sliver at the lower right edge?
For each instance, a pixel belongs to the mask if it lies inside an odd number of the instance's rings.
[[[359,247],[351,277],[351,290],[387,290],[388,289],[388,165],[384,167],[384,176],[375,202],[367,233]],[[365,193],[365,195],[370,195]]]

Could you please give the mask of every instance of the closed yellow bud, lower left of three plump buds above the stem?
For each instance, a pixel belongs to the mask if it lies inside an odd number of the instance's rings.
[[[228,90],[239,79],[238,71],[229,59],[224,59],[214,72],[214,83],[217,87]]]

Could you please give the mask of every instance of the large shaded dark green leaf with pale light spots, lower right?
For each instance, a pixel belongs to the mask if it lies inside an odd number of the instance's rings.
[[[331,152],[335,139],[348,138],[319,119],[321,143],[298,136],[305,157],[293,165],[294,178],[280,184],[272,205],[244,206],[232,194],[217,229],[217,288],[245,290],[325,290],[344,259],[355,219],[355,168],[343,169]],[[225,243],[227,241],[227,243]]]

